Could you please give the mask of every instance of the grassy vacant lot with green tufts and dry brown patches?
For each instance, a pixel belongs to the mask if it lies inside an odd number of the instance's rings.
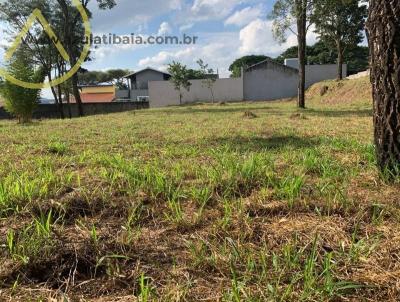
[[[367,79],[324,85],[305,111],[1,121],[0,300],[398,301]]]

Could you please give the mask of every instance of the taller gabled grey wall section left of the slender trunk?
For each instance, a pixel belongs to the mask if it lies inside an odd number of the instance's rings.
[[[293,97],[297,94],[298,71],[266,61],[244,72],[244,99],[268,101]]]

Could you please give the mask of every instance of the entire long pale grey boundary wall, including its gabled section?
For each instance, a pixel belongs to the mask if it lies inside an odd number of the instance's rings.
[[[343,66],[343,75],[347,65]],[[337,65],[307,65],[306,86],[337,77]],[[189,91],[182,89],[183,104],[211,102],[210,90],[203,80],[190,81]],[[297,95],[298,70],[272,61],[250,67],[242,78],[218,79],[213,86],[216,102],[271,101]],[[150,107],[179,105],[179,93],[170,81],[149,82]]]

